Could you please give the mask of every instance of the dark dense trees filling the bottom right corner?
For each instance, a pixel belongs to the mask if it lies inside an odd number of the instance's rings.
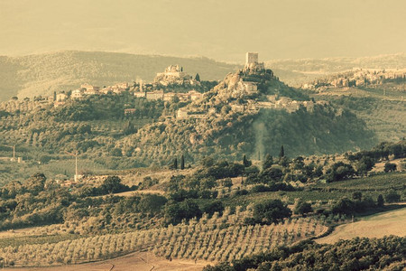
[[[406,238],[354,238],[333,245],[304,241],[299,245],[207,266],[205,271],[245,270],[403,270],[406,267]]]

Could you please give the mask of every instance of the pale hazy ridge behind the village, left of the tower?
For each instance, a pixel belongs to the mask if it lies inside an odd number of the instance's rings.
[[[208,58],[179,58],[103,51],[58,51],[23,57],[0,56],[0,101],[13,96],[50,95],[88,82],[97,86],[135,79],[152,80],[179,64],[202,80],[222,79],[235,65]]]

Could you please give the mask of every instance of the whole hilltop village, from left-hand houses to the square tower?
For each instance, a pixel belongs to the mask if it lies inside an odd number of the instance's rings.
[[[235,73],[229,73],[226,79],[220,81],[213,89],[202,90],[200,77],[196,74],[195,78],[190,76],[183,67],[179,65],[171,65],[163,72],[156,74],[152,82],[128,83],[120,82],[114,86],[105,86],[100,88],[88,83],[80,85],[80,88],[54,92],[50,97],[36,97],[35,102],[42,104],[53,104],[54,107],[64,106],[69,100],[82,100],[91,96],[104,95],[123,95],[128,93],[136,98],[145,98],[147,100],[162,100],[171,102],[174,99],[185,104],[190,104],[188,107],[180,107],[176,113],[176,118],[205,118],[213,114],[220,113],[220,105],[226,104],[225,110],[233,112],[241,112],[245,114],[255,114],[261,108],[284,109],[287,112],[295,112],[300,107],[306,107],[312,110],[316,104],[325,105],[327,102],[313,100],[298,100],[279,94],[262,93],[260,88],[261,80],[279,79],[274,76],[272,70],[265,69],[263,62],[258,61],[258,53],[247,52],[244,69],[237,70]],[[172,91],[176,89],[176,91]],[[199,90],[197,90],[199,89]],[[216,93],[217,98],[212,97]],[[209,99],[208,102],[205,102]],[[13,101],[13,100],[12,100]],[[29,104],[29,98],[24,98],[24,106]],[[201,103],[206,104],[206,109],[200,108]],[[0,109],[11,110],[20,109],[18,100],[14,103],[2,103]],[[124,113],[126,116],[134,114],[136,111],[133,107],[125,107]]]

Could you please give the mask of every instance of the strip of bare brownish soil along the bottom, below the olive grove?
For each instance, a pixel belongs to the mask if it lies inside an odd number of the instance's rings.
[[[208,261],[192,259],[172,259],[156,257],[149,252],[135,252],[124,257],[105,261],[53,267],[16,267],[5,268],[9,271],[200,271],[204,266],[212,264]]]

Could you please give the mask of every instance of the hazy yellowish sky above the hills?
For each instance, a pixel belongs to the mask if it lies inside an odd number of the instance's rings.
[[[244,61],[406,51],[406,0],[0,0],[0,55],[122,51]]]

